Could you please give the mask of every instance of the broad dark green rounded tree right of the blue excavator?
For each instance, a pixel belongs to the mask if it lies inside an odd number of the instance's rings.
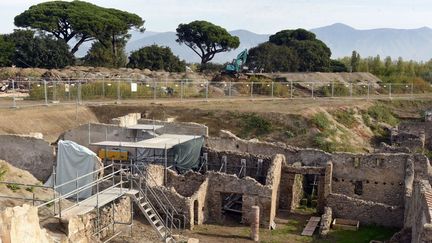
[[[330,49],[314,33],[304,29],[277,32],[265,44],[252,48],[249,54],[249,68],[263,68],[267,72],[330,71],[331,68]]]

